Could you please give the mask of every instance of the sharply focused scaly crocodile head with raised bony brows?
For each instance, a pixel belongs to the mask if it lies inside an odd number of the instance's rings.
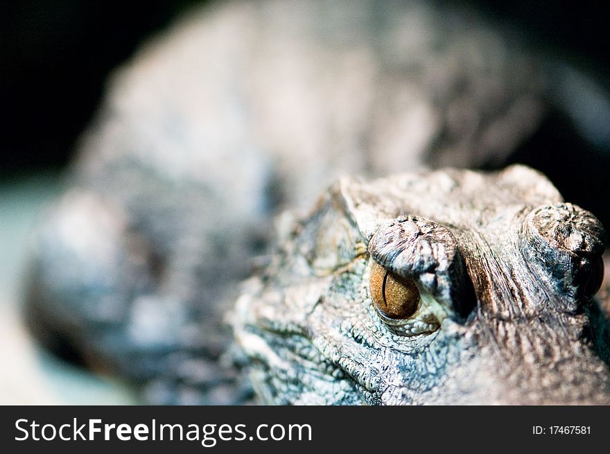
[[[344,178],[230,320],[266,403],[610,403],[604,229],[543,175]]]

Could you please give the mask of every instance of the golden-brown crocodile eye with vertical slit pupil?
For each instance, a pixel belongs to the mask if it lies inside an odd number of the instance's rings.
[[[386,317],[401,320],[417,311],[419,290],[412,279],[398,276],[373,263],[370,286],[375,307]]]

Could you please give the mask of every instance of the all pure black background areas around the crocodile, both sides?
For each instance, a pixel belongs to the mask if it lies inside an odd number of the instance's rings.
[[[64,166],[101,99],[109,71],[128,59],[147,36],[198,3],[204,2],[0,3],[0,178]],[[565,56],[608,85],[607,4],[551,0],[462,3],[520,28],[535,46]],[[610,222],[604,191],[610,150],[593,149],[580,141],[566,119],[554,121],[514,161],[544,171],[568,200]],[[553,150],[554,158],[548,159],[541,150]]]

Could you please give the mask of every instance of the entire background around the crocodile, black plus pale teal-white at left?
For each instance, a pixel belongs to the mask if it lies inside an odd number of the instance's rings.
[[[199,3],[0,3],[0,404],[134,402],[123,383],[96,378],[35,346],[19,322],[19,276],[30,228],[60,192],[62,172],[103,95],[107,74],[146,37]],[[561,55],[608,89],[610,6],[550,0],[462,3],[521,28],[536,47]],[[554,150],[552,161],[543,152],[523,152],[515,159],[547,173],[567,200],[610,225],[604,190],[610,150],[573,142],[569,128],[558,120],[530,144]]]

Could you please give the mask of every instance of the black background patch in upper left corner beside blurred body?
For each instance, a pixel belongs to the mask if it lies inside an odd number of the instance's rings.
[[[195,3],[0,3],[0,175],[66,164],[109,71]]]

